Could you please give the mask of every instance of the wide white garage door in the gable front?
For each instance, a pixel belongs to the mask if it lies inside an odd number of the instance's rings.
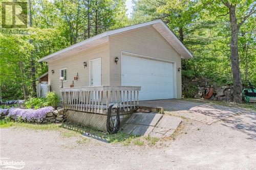
[[[141,86],[140,101],[172,99],[173,63],[122,55],[122,85]]]

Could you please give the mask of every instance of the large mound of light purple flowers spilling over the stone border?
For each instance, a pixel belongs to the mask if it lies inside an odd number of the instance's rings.
[[[51,106],[40,109],[20,109],[11,108],[8,117],[19,122],[42,122],[47,113],[53,112],[54,108]]]

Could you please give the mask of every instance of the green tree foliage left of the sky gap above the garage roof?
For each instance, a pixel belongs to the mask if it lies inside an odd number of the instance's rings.
[[[127,22],[124,0],[34,0],[31,4],[32,27],[26,29],[27,35],[0,33],[0,89],[4,100],[34,96],[32,82],[48,70],[47,63],[38,63],[38,59]]]

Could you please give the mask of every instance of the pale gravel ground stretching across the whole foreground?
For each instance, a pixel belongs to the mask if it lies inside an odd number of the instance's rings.
[[[83,138],[87,137],[4,128],[1,158],[23,160],[24,169],[256,169],[253,111],[211,125],[183,119],[175,139],[153,147]]]

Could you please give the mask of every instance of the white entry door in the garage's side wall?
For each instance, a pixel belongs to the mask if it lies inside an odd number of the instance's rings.
[[[90,86],[101,86],[101,58],[90,60]]]

